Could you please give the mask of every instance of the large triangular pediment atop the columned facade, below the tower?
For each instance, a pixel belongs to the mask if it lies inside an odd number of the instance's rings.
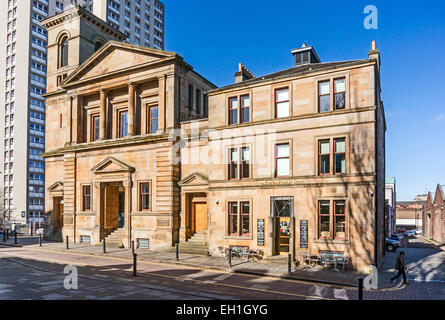
[[[74,70],[62,87],[70,84],[106,77],[120,72],[179,57],[176,53],[109,41],[82,65]],[[182,58],[181,58],[182,59]]]

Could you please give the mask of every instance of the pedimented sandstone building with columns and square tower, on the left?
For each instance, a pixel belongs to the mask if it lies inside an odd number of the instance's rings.
[[[186,85],[203,106],[203,93],[215,86],[175,53],[122,42],[123,34],[82,7],[43,25],[48,233],[94,244],[118,230],[127,247],[130,239],[171,246],[180,168],[169,161],[175,141],[167,132],[205,116],[204,108],[186,108]]]

